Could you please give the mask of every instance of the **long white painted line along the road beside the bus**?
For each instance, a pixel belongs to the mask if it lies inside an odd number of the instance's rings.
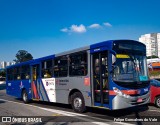
[[[114,122],[112,120],[105,120],[105,119],[96,118],[96,117],[92,117],[92,116],[88,116],[88,115],[84,115],[84,114],[79,114],[79,113],[73,113],[73,112],[67,112],[67,111],[61,111],[61,110],[49,109],[49,108],[42,108],[42,107],[35,106],[35,105],[24,104],[24,103],[14,102],[14,101],[10,101],[10,100],[5,100],[5,99],[0,99],[0,100],[1,101],[6,101],[6,102],[16,103],[16,104],[20,104],[20,105],[27,105],[27,106],[30,106],[30,107],[35,107],[35,108],[39,108],[39,109],[46,110],[46,111],[49,111],[49,112],[64,115],[64,116],[86,116],[86,118],[85,117],[76,117],[76,118],[78,118],[80,120],[87,121],[87,122],[92,122],[92,123],[97,124],[97,125],[111,125],[113,123],[123,124],[123,125],[133,125],[133,124],[130,124],[130,123]],[[91,118],[91,119],[89,119],[89,118]],[[93,122],[93,119],[96,119],[96,120],[99,120],[99,121],[104,121],[104,122]],[[111,124],[108,124],[108,123],[105,123],[105,122],[111,122]]]

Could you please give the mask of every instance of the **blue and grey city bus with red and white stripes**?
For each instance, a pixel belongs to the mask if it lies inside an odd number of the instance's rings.
[[[146,46],[109,40],[7,67],[6,92],[30,100],[110,110],[149,103]]]

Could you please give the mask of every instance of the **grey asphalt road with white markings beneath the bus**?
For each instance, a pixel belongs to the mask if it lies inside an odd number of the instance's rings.
[[[110,111],[87,108],[83,114],[75,113],[70,105],[36,102],[24,104],[19,98],[6,95],[5,85],[0,85],[0,121],[6,117],[12,122],[2,124],[98,124],[98,125],[157,125],[160,109],[154,105]],[[2,118],[3,117],[3,118]],[[19,121],[16,121],[19,120]],[[145,121],[145,122],[144,122]],[[158,121],[158,122],[157,122]],[[0,124],[1,124],[0,123]]]

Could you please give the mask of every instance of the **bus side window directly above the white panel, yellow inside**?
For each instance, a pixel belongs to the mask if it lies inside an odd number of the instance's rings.
[[[51,78],[52,77],[52,60],[47,60],[42,62],[42,78]]]

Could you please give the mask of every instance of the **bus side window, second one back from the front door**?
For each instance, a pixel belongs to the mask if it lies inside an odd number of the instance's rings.
[[[62,56],[54,60],[54,76],[66,77],[68,74],[68,57]]]

